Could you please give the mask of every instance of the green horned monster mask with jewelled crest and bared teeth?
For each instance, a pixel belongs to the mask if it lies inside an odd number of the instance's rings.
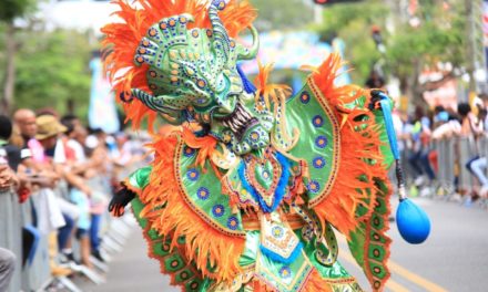
[[[139,88],[132,95],[173,125],[197,122],[238,155],[270,144],[273,115],[255,107],[255,97],[244,91],[236,62],[254,59],[253,44],[245,48],[228,36],[217,14],[224,2],[212,4],[212,29],[187,29],[190,14],[162,19],[141,40],[134,62],[149,65],[148,84],[153,94]]]

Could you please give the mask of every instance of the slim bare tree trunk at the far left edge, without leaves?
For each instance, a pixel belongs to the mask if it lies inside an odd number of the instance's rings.
[[[10,114],[16,86],[16,31],[13,23],[7,23],[6,29],[6,75],[3,80],[3,96],[1,100],[1,113]]]

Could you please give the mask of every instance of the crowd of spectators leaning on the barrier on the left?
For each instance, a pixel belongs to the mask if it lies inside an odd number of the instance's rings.
[[[53,111],[21,108],[12,118],[0,115],[0,196],[14,192],[19,205],[30,205],[33,228],[49,238],[52,277],[105,261],[100,237],[106,205],[120,170],[146,158],[142,143],[122,132],[89,129],[77,116],[60,117]],[[23,269],[32,257],[35,240],[29,232],[19,234],[21,254],[0,248],[0,291],[7,291],[13,270]],[[16,267],[16,257],[21,267]]]

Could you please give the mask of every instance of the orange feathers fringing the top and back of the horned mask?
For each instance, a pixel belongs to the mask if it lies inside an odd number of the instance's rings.
[[[105,55],[105,70],[110,73],[113,90],[116,96],[122,94],[125,98],[131,96],[131,88],[152,92],[146,77],[149,66],[135,66],[133,63],[139,42],[151,25],[163,18],[190,13],[195,21],[189,23],[189,29],[211,28],[207,17],[209,0],[135,0],[132,4],[128,3],[128,0],[113,0],[112,3],[119,6],[120,10],[114,14],[122,19],[122,22],[102,28],[105,34],[102,51],[109,52]],[[230,1],[218,15],[228,35],[235,38],[252,24],[257,13],[247,1]],[[142,119],[149,117],[149,129],[152,131],[156,117],[154,112],[136,100],[123,103],[123,107],[126,121],[132,121],[133,127],[140,127]]]

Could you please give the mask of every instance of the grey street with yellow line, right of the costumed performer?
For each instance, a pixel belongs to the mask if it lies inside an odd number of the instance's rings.
[[[488,211],[441,200],[415,201],[430,216],[431,233],[425,243],[413,246],[405,242],[396,225],[392,225],[389,234],[394,243],[388,290],[487,291]],[[344,253],[345,249],[342,250]],[[350,259],[344,255],[343,259],[363,286],[367,286],[365,278],[359,277],[363,273],[354,269]]]

